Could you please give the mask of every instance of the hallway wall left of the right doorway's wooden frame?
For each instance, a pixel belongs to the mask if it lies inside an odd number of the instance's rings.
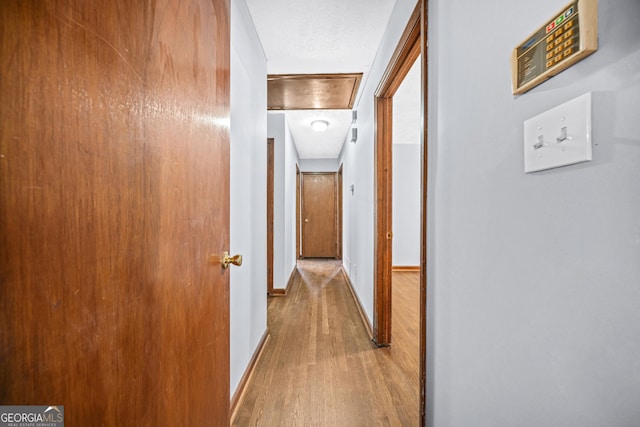
[[[344,194],[343,264],[358,298],[373,320],[374,278],[374,92],[396,48],[415,0],[397,0],[376,60],[367,76],[357,105],[358,141],[342,151]],[[349,186],[354,185],[353,194]]]

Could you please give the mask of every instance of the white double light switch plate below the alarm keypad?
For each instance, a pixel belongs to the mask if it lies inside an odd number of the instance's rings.
[[[591,93],[524,122],[524,171],[591,160]]]

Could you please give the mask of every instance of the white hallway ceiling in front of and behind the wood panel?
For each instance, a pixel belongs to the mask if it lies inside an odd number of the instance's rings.
[[[269,74],[364,73],[373,63],[395,0],[246,0]],[[286,111],[300,158],[336,158],[350,110]],[[318,133],[309,123],[329,122]]]

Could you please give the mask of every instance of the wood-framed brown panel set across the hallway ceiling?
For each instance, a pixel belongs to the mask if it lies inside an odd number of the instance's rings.
[[[361,80],[362,73],[271,74],[267,76],[267,109],[351,109]]]

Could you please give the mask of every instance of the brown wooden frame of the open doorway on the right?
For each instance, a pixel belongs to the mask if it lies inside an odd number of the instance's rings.
[[[420,426],[425,425],[427,360],[427,102],[428,0],[418,0],[375,92],[375,274],[373,340],[378,346],[391,344],[392,270],[392,121],[393,95],[421,56],[421,202],[420,202]]]

